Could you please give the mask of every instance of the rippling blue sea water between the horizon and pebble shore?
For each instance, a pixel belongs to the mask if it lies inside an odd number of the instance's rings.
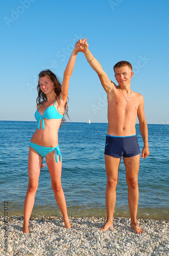
[[[62,186],[68,215],[106,216],[104,146],[107,123],[72,123],[59,130],[63,158]],[[37,122],[0,121],[0,215],[8,201],[8,215],[23,215],[27,190],[29,142]],[[140,159],[138,218],[168,219],[169,125],[148,124],[150,156]],[[143,139],[136,124],[140,146]],[[61,216],[55,202],[47,164],[40,172],[32,215]],[[115,216],[129,217],[123,159],[119,168]]]

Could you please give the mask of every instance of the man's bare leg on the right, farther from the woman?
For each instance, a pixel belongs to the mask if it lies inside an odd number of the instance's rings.
[[[139,155],[134,157],[123,158],[126,168],[126,181],[128,185],[128,204],[131,216],[131,228],[137,233],[142,233],[143,230],[137,223],[138,209],[138,170],[139,170]]]

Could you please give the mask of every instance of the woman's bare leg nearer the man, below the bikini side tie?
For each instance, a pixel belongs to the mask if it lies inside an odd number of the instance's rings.
[[[65,223],[66,228],[70,228],[71,225],[67,214],[65,195],[61,184],[62,160],[60,162],[58,157],[57,163],[55,161],[55,151],[52,151],[46,155],[46,163],[51,177],[51,185],[54,191],[54,197],[63,215],[63,222]]]

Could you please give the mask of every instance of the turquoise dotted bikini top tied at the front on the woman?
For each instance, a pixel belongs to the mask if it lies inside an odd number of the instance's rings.
[[[40,104],[41,105],[41,104]],[[39,105],[39,107],[40,107]],[[37,109],[37,111],[35,112],[35,118],[38,121],[38,128],[39,130],[41,130],[40,128],[40,121],[42,119],[42,129],[45,129],[45,121],[44,118],[46,119],[62,119],[63,115],[61,115],[57,109],[55,108],[55,101],[54,104],[52,106],[48,106],[47,109],[45,109],[43,116],[39,113],[39,108]]]

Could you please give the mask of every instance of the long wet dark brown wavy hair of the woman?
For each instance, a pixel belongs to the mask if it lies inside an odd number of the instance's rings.
[[[55,99],[58,101],[58,104],[60,105],[60,96],[61,96],[61,93],[62,93],[62,84],[59,81],[59,79],[57,78],[57,76],[53,72],[51,72],[51,70],[49,70],[49,69],[41,71],[38,76],[39,76],[39,79],[41,77],[44,77],[44,76],[49,77],[49,79],[53,83]],[[40,89],[39,79],[38,79],[38,86],[37,86],[38,97],[36,99],[36,102],[37,102],[38,105],[42,104],[44,101],[47,100],[46,94],[43,93]],[[69,118],[69,115],[68,115],[68,101],[66,101],[66,103],[65,103],[65,112],[64,112],[64,115],[63,115],[63,118],[62,118],[62,122],[66,122],[65,114]]]

